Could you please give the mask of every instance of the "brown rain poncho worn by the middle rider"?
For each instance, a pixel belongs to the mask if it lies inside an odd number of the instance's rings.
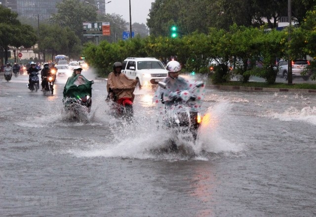
[[[137,80],[131,80],[123,73],[119,73],[115,76],[114,72],[111,72],[108,77],[107,91],[110,93],[110,88],[113,90],[117,99],[130,98],[134,100],[134,89],[136,87]]]

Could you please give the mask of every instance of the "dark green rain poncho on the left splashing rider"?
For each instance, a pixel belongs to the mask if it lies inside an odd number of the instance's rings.
[[[86,95],[89,95],[91,97],[92,84],[93,81],[87,80],[83,77],[83,75],[76,75],[75,73],[73,73],[73,75],[68,78],[67,83],[64,87],[64,98],[71,97],[79,99]]]

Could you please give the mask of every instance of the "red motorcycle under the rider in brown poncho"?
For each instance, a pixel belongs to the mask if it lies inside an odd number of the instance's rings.
[[[130,97],[122,97],[118,99],[118,97],[111,88],[106,99],[107,102],[111,102],[113,110],[116,111],[118,115],[127,117],[133,116],[133,100],[134,99]]]

